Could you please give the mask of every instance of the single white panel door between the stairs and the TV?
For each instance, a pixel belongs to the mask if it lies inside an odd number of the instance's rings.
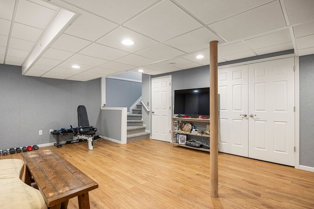
[[[171,142],[171,76],[152,78],[152,139]]]

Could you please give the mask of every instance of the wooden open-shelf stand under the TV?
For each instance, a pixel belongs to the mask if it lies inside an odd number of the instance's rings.
[[[195,138],[201,138],[201,139],[203,139],[203,138],[210,139],[210,135],[208,135],[208,134],[193,134],[193,133],[183,132],[182,130],[175,130],[176,122],[178,122],[178,123],[183,123],[183,122],[184,123],[188,123],[188,122],[190,122],[193,126],[195,126],[195,128],[200,129],[199,127],[202,127],[205,130],[204,127],[206,127],[207,125],[210,124],[210,119],[191,118],[191,117],[190,118],[187,118],[187,117],[171,117],[171,121],[172,121],[172,146],[182,146],[182,147],[186,147],[186,148],[190,148],[190,149],[196,149],[196,150],[202,150],[202,151],[206,151],[206,152],[210,151],[210,149],[186,146],[185,144],[179,144],[176,141],[177,140],[177,134],[183,134],[183,135],[187,135],[187,136],[194,136]],[[204,131],[204,130],[202,130],[202,131]],[[209,144],[209,141],[208,141],[208,144]]]

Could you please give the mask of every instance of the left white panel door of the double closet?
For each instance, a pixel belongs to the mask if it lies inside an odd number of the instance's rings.
[[[218,70],[219,151],[248,157],[248,66]]]

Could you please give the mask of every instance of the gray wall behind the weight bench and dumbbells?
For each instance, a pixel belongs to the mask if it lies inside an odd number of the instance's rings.
[[[90,125],[100,127],[99,104],[100,79],[23,76],[21,67],[0,64],[0,149],[55,142],[49,130],[78,126],[78,105],[85,105]]]

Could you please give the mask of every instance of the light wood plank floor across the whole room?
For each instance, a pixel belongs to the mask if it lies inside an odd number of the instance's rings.
[[[99,184],[91,209],[314,209],[314,172],[289,166],[219,153],[219,197],[210,198],[208,152],[152,139],[40,149],[55,150]]]

